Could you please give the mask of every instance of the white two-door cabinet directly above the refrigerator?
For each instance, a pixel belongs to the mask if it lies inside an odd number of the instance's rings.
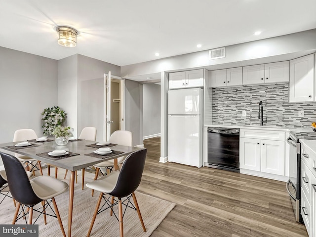
[[[204,85],[203,69],[169,73],[169,89],[200,87]]]

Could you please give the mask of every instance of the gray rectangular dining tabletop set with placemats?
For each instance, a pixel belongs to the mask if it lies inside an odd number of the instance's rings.
[[[61,167],[64,169],[68,169],[70,171],[79,170],[88,166],[92,166],[94,164],[97,164],[101,161],[110,160],[114,158],[118,158],[121,156],[129,155],[130,153],[140,150],[140,148],[137,147],[127,147],[127,146],[112,146],[111,149],[115,151],[121,151],[124,152],[123,154],[119,154],[113,157],[109,158],[95,158],[90,156],[85,156],[85,154],[89,154],[96,150],[96,148],[92,147],[86,147],[85,145],[95,144],[95,141],[88,141],[88,140],[82,140],[82,141],[73,141],[69,142],[65,146],[58,146],[54,141],[51,142],[44,142],[44,143],[33,143],[40,146],[36,147],[25,147],[23,149],[14,150],[12,148],[8,148],[8,146],[14,146],[19,142],[9,142],[9,143],[2,143],[0,144],[0,148],[3,150],[7,150],[10,152],[18,153],[24,156],[28,156],[30,158],[35,158],[37,160],[43,161],[45,163],[49,163],[52,165],[55,165],[57,167]],[[32,143],[32,142],[31,142]],[[49,158],[43,158],[40,156],[37,156],[36,154],[44,153],[44,152],[51,152],[53,150],[62,149],[73,153],[79,153],[78,156],[73,156],[69,158],[63,158],[59,160],[52,160]]]

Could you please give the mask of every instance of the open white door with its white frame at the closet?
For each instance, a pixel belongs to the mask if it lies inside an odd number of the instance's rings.
[[[111,81],[114,80],[119,80],[119,98],[114,99],[111,98]],[[124,124],[124,116],[125,116],[125,111],[124,111],[124,80],[120,77],[116,76],[111,76],[111,72],[108,74],[104,74],[104,130],[103,130],[103,140],[104,141],[109,141],[111,134],[111,125],[114,123],[114,119],[111,116],[111,107],[113,103],[119,103],[119,130],[124,130],[125,129],[125,124]]]

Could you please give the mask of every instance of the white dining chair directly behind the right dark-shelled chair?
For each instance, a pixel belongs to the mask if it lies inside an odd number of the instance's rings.
[[[117,130],[114,131],[109,139],[109,142],[112,144],[122,145],[122,146],[132,146],[132,133],[130,131],[126,130]],[[123,163],[126,156],[118,157],[118,164]],[[114,167],[114,159],[108,160],[108,161],[102,161],[100,163],[97,163],[93,165],[95,167],[95,176],[94,180],[98,178],[100,169],[105,169],[106,174],[111,172]],[[94,190],[92,189],[92,196],[93,196]]]

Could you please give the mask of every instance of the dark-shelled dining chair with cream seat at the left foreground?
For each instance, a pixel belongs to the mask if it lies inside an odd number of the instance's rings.
[[[51,199],[55,209],[55,217],[57,217],[58,219],[63,236],[66,237],[56,205],[55,197],[67,191],[68,184],[46,175],[41,175],[33,179],[29,179],[27,173],[24,170],[23,164],[17,158],[2,152],[0,152],[0,156],[5,168],[5,173],[11,195],[18,202],[12,224],[15,224],[17,219],[25,217],[27,214],[29,214],[28,224],[31,225],[33,211],[43,214],[44,223],[46,224],[45,210],[47,206],[50,206],[47,199]],[[43,207],[42,211],[34,208],[34,206],[40,202]],[[23,209],[23,215],[21,217],[18,217],[21,205],[23,205],[22,208],[24,208],[25,206],[28,207],[28,211],[27,213],[25,213],[25,210]]]

